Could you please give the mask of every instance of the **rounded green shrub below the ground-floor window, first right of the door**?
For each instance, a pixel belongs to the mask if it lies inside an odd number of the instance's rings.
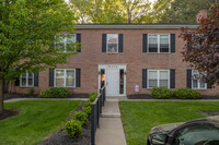
[[[154,87],[151,89],[151,96],[157,99],[168,99],[172,97],[172,90],[166,87]]]

